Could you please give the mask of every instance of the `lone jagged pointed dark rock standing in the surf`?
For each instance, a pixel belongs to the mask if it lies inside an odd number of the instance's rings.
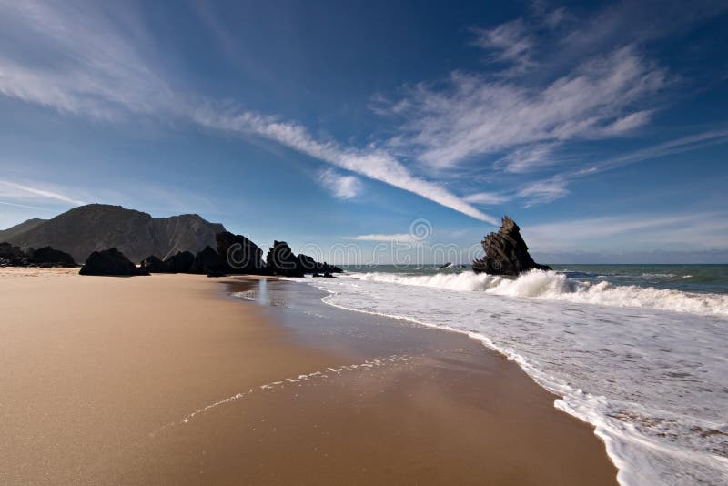
[[[551,267],[533,261],[526,242],[521,238],[521,228],[507,216],[503,217],[498,233],[490,233],[481,244],[485,257],[472,263],[476,273],[516,276],[533,268],[551,270]]]

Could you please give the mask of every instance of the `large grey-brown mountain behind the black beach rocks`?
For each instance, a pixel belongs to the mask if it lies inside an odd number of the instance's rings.
[[[197,252],[215,248],[215,234],[225,231],[197,215],[152,218],[147,213],[106,204],[73,208],[56,218],[29,220],[5,229],[0,241],[27,248],[62,248],[76,261],[84,261],[92,251],[119,248],[133,261],[147,255],[166,259],[178,251]]]

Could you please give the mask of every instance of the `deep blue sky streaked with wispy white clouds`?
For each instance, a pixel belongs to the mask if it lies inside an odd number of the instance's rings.
[[[435,263],[507,214],[546,262],[728,262],[724,1],[0,9],[0,228],[100,202]]]

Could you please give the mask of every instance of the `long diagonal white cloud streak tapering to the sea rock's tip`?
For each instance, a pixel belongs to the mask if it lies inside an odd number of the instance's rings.
[[[58,53],[54,66],[13,58],[0,47],[0,94],[49,106],[79,116],[112,119],[127,114],[186,119],[201,127],[255,135],[273,140],[360,176],[430,199],[471,218],[495,224],[496,219],[435,182],[416,177],[389,152],[377,147],[344,147],[312,137],[305,127],[279,116],[261,115],[239,107],[203,102],[169,87],[142,53],[141,46],[120,29],[116,18],[95,4],[22,4],[0,0],[2,25],[29,42]],[[79,11],[81,10],[81,11]],[[144,37],[144,35],[140,35]],[[11,49],[12,50],[12,49]],[[349,179],[351,180],[351,179]],[[349,187],[350,192],[351,187]]]

